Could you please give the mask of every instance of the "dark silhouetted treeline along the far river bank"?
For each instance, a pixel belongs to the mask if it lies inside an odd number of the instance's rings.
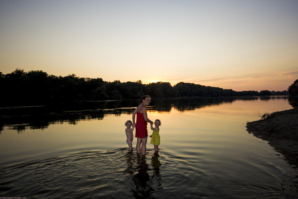
[[[294,82],[296,83],[298,79]],[[1,104],[45,104],[81,100],[133,99],[149,95],[162,97],[223,97],[289,95],[288,91],[234,91],[219,87],[179,82],[172,86],[169,82],[142,84],[136,82],[104,81],[102,78],[80,78],[75,74],[65,77],[48,75],[42,70],[15,71],[4,75],[0,72],[2,90]],[[294,91],[297,88],[293,87]],[[296,92],[295,91],[295,92]]]

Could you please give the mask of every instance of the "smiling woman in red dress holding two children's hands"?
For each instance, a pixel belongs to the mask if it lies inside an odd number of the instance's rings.
[[[146,106],[150,103],[150,97],[148,95],[144,95],[140,100],[141,104],[136,107],[134,112],[132,113],[132,121],[133,124],[136,125],[136,152],[141,152],[141,143],[142,143],[142,155],[146,154],[146,144],[148,138],[148,131],[147,131],[147,122],[153,124],[153,121],[149,120],[147,117],[147,108]],[[136,117],[136,123],[135,123]]]

